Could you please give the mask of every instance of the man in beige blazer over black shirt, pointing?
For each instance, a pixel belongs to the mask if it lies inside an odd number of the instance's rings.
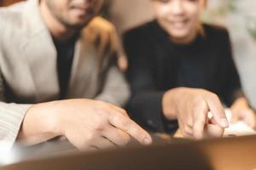
[[[129,88],[113,26],[95,17],[102,3],[29,0],[0,9],[0,148],[56,136],[81,150],[131,137],[151,143],[118,107]]]

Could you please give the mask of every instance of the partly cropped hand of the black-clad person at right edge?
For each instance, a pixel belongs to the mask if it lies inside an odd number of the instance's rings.
[[[236,99],[230,109],[232,112],[232,122],[243,121],[249,127],[256,129],[256,114],[247,104],[247,99]]]

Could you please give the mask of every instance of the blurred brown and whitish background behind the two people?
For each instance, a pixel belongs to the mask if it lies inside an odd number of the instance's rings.
[[[8,6],[20,0],[0,0]],[[201,20],[226,26],[230,31],[233,53],[248,99],[256,108],[256,1],[208,0]],[[102,15],[117,27],[119,36],[134,26],[153,19],[149,0],[105,0]]]

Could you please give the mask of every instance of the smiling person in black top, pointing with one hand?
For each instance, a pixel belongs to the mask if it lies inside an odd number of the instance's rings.
[[[172,133],[177,120],[185,137],[201,139],[207,127],[216,127],[212,135],[221,136],[223,127],[228,127],[221,99],[236,119],[255,127],[254,112],[241,92],[228,32],[200,21],[207,2],[151,3],[155,20],[124,36],[131,115],[153,131]]]

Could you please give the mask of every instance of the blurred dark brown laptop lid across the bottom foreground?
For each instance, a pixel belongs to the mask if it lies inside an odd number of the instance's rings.
[[[24,161],[1,170],[165,170],[165,169],[256,169],[256,135],[206,139],[170,140],[172,144],[131,146],[119,150],[72,153]]]

